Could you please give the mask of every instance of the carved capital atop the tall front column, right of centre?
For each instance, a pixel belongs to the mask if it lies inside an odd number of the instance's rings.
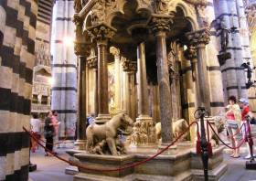
[[[173,22],[173,16],[162,16],[162,15],[152,15],[152,18],[149,22],[149,27],[154,33],[169,31],[170,24]]]

